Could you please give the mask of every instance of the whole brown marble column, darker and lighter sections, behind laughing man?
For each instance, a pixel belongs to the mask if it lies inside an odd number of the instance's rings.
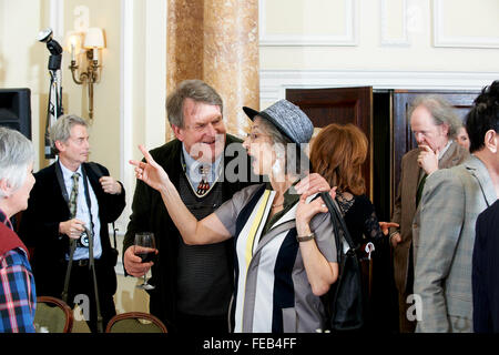
[[[227,132],[243,138],[242,106],[259,109],[258,1],[170,0],[169,92],[184,79],[202,79],[221,94]]]

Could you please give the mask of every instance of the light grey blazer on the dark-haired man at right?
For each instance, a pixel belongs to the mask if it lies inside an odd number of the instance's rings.
[[[472,332],[475,224],[496,200],[487,168],[475,155],[426,180],[414,284],[421,297],[416,332]]]

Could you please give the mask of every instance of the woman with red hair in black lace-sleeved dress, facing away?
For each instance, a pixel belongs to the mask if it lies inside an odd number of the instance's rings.
[[[378,222],[375,207],[365,194],[366,184],[361,166],[367,158],[368,141],[366,135],[353,124],[329,124],[315,138],[310,149],[310,163],[315,173],[326,179],[336,189],[336,202],[345,219],[348,232],[358,245],[360,257],[366,258],[365,245],[375,244],[369,271],[363,271],[365,325],[363,332],[383,332],[391,329],[390,293],[391,271],[389,243],[384,234],[396,223]],[[373,264],[370,264],[373,262]],[[393,308],[393,311],[391,311]],[[394,313],[396,315],[396,313]]]

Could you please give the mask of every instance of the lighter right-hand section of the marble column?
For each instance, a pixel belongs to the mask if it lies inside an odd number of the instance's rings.
[[[227,132],[245,134],[242,108],[259,109],[258,1],[205,1],[204,80],[224,100]]]

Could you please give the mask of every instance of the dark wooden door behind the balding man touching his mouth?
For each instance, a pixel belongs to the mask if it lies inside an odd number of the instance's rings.
[[[408,111],[414,99],[422,94],[438,94],[449,101],[461,119],[471,109],[478,91],[420,91],[395,90],[394,91],[394,126],[393,126],[393,161],[391,161],[391,209],[394,210],[395,196],[400,181],[401,158],[405,153],[418,146],[410,131]]]

